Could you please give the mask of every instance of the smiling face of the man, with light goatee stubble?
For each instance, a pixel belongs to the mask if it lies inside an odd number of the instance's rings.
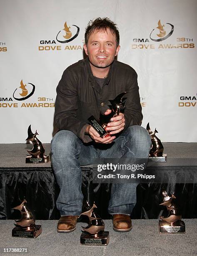
[[[88,38],[87,45],[84,45],[90,64],[97,68],[109,67],[119,49],[116,36],[109,28],[106,31],[94,31]]]

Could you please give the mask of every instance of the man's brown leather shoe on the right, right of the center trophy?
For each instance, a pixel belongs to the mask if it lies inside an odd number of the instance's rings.
[[[113,230],[117,232],[128,232],[132,229],[130,215],[113,214]]]

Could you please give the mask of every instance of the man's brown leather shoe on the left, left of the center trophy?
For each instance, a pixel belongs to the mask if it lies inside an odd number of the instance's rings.
[[[57,232],[70,233],[75,230],[78,216],[61,216],[57,223]]]

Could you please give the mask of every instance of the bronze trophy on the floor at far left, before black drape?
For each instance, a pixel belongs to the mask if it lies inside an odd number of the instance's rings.
[[[35,218],[30,212],[27,201],[24,199],[23,202],[14,207],[15,210],[20,210],[20,220],[15,220],[15,228],[12,229],[12,236],[14,237],[25,237],[25,238],[36,238],[42,232],[41,225],[35,225]]]

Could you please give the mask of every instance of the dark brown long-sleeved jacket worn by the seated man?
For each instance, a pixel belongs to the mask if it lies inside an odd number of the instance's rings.
[[[84,143],[92,141],[85,134],[91,115],[98,120],[102,102],[113,100],[122,92],[125,94],[125,129],[131,125],[141,125],[137,73],[127,64],[114,60],[102,87],[92,74],[89,59],[80,60],[67,67],[57,86],[55,101],[55,124],[59,130],[75,133]],[[123,130],[123,131],[124,131]]]

